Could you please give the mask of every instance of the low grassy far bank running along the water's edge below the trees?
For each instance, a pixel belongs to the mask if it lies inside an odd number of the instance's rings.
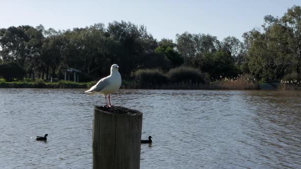
[[[60,80],[45,82],[42,79],[31,81],[1,81],[0,88],[45,88],[45,89],[89,89],[97,81],[73,82]],[[279,82],[253,82],[253,81],[214,81],[210,83],[169,83],[164,85],[139,85],[135,81],[123,80],[120,89],[161,89],[161,90],[301,90],[299,86],[283,85]]]

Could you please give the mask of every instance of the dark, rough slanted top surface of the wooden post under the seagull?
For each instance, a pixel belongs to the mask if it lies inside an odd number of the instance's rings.
[[[141,115],[142,112],[138,110],[134,110],[131,108],[127,107],[122,107],[122,106],[114,106],[114,107],[105,107],[105,106],[94,106],[94,109],[98,109],[100,111],[105,111],[110,114],[121,114],[121,115],[131,115],[131,116],[136,116],[136,115]]]

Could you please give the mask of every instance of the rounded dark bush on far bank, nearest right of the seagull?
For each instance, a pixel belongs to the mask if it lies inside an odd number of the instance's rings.
[[[135,82],[140,87],[160,86],[167,82],[166,76],[159,69],[139,69],[134,75]]]

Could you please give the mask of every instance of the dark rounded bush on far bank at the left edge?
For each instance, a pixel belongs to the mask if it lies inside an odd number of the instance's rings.
[[[25,71],[16,64],[0,65],[0,75],[7,81],[11,81],[14,78],[22,79],[25,75]]]

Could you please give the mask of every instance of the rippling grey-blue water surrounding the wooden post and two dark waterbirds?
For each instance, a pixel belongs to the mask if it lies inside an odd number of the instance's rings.
[[[0,168],[91,168],[93,106],[80,89],[0,89]],[[141,168],[301,168],[301,92],[119,90],[143,112]],[[37,135],[48,134],[47,142]]]

